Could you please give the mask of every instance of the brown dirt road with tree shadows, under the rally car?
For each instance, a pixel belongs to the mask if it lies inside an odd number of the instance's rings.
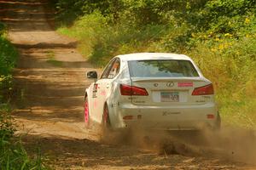
[[[136,140],[103,144],[96,131],[84,128],[84,88],[90,84],[85,72],[94,68],[76,50],[74,40],[51,28],[54,14],[46,7],[46,1],[0,0],[0,19],[20,52],[14,116],[19,133],[26,133],[22,140],[30,153],[41,147],[54,169],[256,169],[256,143],[250,133],[233,139],[224,131],[225,142],[213,144],[214,149],[172,139],[165,150],[155,143],[139,147]],[[242,154],[236,155],[240,148]]]

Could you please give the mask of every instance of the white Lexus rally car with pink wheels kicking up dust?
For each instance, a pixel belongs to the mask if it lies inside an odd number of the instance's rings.
[[[123,54],[111,59],[84,95],[86,127],[196,130],[220,127],[212,82],[183,54]]]

